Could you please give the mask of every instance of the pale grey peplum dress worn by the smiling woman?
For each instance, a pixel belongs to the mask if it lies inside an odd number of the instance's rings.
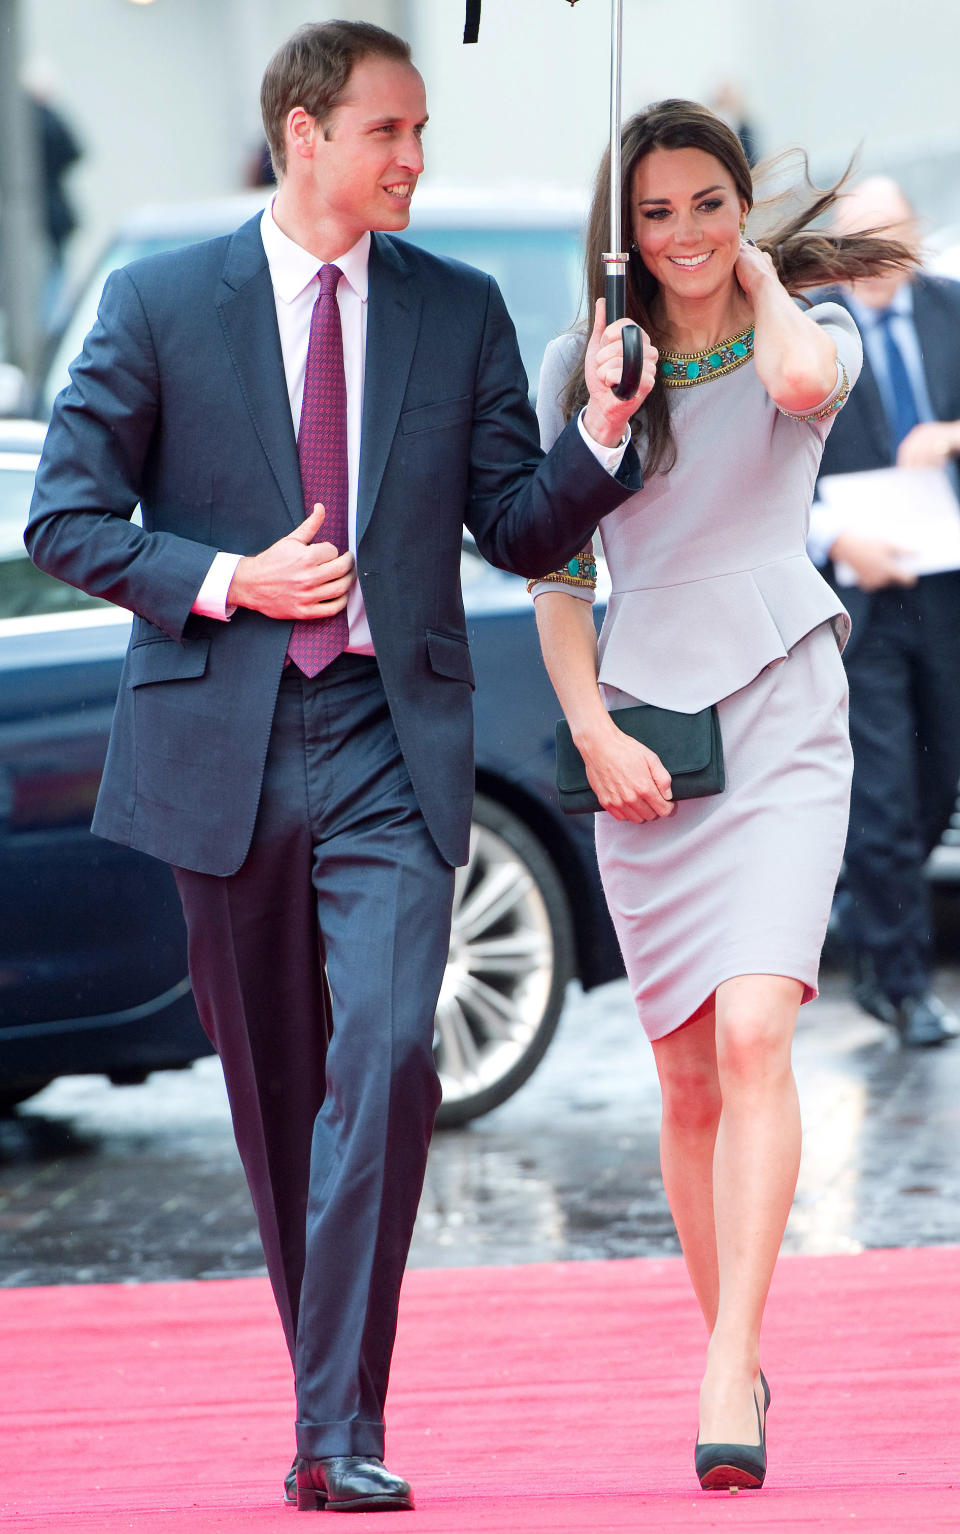
[[[828,407],[842,371],[850,384],[860,371],[860,337],[836,304],[810,316],[842,364]],[[578,345],[561,336],[547,348],[544,446],[563,425],[558,396]],[[782,414],[753,360],[672,390],[670,408],[675,468],[600,523],[612,578],[600,686],[607,707],[716,703],[727,787],[661,821],[597,816],[603,885],[650,1039],[733,976],[790,976],[805,1002],[817,994],[853,765],[840,660],[850,620],[805,552],[833,414]]]

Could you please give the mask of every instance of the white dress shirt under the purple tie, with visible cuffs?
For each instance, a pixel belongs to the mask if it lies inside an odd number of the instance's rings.
[[[324,262],[317,261],[316,256],[304,250],[302,245],[298,245],[282,232],[273,218],[271,202],[264,209],[261,218],[261,239],[264,241],[270,281],[273,284],[290,414],[293,416],[294,434],[299,434],[307,345],[310,342],[310,318],[321,288],[319,270]],[[337,256],[336,261],[336,265],[344,273],[337,287],[337,305],[344,333],[344,373],[347,376],[347,523],[348,545],[354,558],[357,552],[357,477],[360,468],[360,422],[363,417],[363,368],[367,359],[368,264],[370,233],[362,235],[356,245],[344,256]],[[583,411],[580,414],[580,434],[597,462],[607,472],[616,474],[629,437],[624,436],[624,440],[616,448],[601,446],[586,431]],[[193,603],[193,612],[201,614],[204,618],[221,620],[227,620],[236,612],[236,607],[227,606],[227,592],[230,591],[230,581],[239,561],[239,554],[216,554],[213,557],[213,563]],[[354,581],[350,588],[347,623],[347,649],[359,655],[373,655],[373,638],[359,581]]]

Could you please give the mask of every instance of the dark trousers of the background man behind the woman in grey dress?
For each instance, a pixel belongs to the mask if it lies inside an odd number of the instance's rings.
[[[900,1003],[929,989],[923,865],[960,776],[960,572],[874,592],[847,670],[854,773],[842,936]]]

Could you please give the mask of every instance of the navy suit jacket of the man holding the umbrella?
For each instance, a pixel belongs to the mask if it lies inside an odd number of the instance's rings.
[[[305,515],[259,215],[113,273],[71,379],[26,543],[41,569],[135,614],[94,830],[228,874],[250,847],[291,624],[190,607],[216,549],[256,554]],[[463,523],[492,563],[540,574],[636,483],[635,453],[613,479],[575,422],[543,457],[491,278],[374,233],[357,575],[451,864],[466,861],[474,793]]]

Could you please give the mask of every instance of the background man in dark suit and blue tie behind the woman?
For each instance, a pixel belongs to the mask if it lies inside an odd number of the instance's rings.
[[[917,245],[912,210],[888,178],[839,204],[837,232],[889,229]],[[894,273],[830,295],[853,313],[863,371],[831,431],[820,476],[943,468],[957,488],[960,284]],[[850,833],[837,894],[854,996],[908,1046],[940,1045],[957,1020],[931,991],[932,937],[923,865],[940,841],[960,776],[960,571],[912,575],[909,502],[894,542],[843,526],[828,499],[813,508],[810,554],[843,561],[853,618],[845,660],[854,750]],[[957,509],[960,515],[960,508]]]

